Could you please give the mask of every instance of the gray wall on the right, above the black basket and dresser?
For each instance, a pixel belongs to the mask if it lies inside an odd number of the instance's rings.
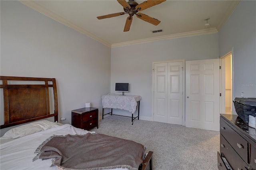
[[[232,50],[234,97],[256,97],[256,1],[241,1],[219,32],[219,55]]]

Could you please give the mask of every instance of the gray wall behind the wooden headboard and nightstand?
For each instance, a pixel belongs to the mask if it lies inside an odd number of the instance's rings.
[[[102,108],[101,96],[110,93],[111,49],[18,1],[0,3],[0,74],[56,78],[64,123],[85,103]]]

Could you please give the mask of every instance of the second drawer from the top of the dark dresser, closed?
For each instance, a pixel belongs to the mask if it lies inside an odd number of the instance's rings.
[[[227,140],[220,135],[220,152],[228,161],[233,170],[248,170],[249,166],[242,160],[236,151],[230,146]]]

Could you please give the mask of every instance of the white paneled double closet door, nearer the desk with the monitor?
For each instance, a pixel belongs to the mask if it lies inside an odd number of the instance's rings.
[[[182,125],[183,62],[154,63],[154,121]]]

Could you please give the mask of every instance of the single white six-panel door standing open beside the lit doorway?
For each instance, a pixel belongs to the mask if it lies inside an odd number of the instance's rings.
[[[186,61],[186,127],[220,130],[220,60]]]

